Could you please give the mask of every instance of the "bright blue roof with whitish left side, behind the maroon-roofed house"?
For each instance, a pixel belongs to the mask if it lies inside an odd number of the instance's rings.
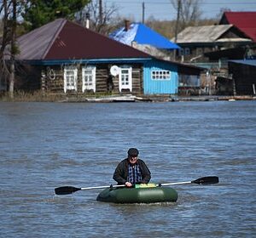
[[[161,36],[159,33],[153,31],[142,23],[132,23],[128,31],[125,31],[125,27],[121,27],[119,30],[111,33],[109,37],[127,45],[131,45],[131,42],[134,41],[139,44],[152,45],[155,48],[179,48],[177,44],[169,41],[166,37]]]

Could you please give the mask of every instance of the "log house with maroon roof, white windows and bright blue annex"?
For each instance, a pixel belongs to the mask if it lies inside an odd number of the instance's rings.
[[[177,94],[179,74],[198,77],[201,71],[156,59],[64,19],[31,31],[17,42],[20,88],[54,94]]]

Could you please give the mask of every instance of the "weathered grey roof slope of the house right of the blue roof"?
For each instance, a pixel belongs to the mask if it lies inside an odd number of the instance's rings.
[[[177,43],[215,42],[232,25],[221,26],[189,26],[177,35]]]

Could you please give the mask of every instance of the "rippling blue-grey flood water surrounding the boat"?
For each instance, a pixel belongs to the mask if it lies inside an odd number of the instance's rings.
[[[256,101],[0,103],[1,237],[255,237]],[[115,184],[130,147],[176,203],[119,205]]]

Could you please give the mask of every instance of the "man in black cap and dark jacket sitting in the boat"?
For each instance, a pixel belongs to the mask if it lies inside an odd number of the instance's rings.
[[[145,162],[138,158],[139,151],[136,148],[128,150],[128,157],[119,162],[113,173],[113,179],[118,184],[131,187],[134,184],[148,184],[151,173]]]

